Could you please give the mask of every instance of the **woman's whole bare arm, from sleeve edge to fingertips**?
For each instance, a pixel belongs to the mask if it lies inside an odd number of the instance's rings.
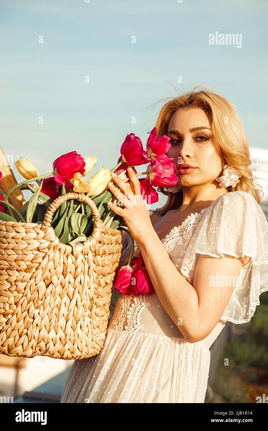
[[[132,237],[139,244],[146,269],[157,296],[167,314],[189,343],[203,340],[219,322],[235,286],[210,286],[210,277],[224,275],[225,280],[239,276],[242,263],[232,257],[211,258],[200,255],[193,285],[188,283],[169,258],[151,224],[148,206],[141,195],[136,174],[128,169],[130,188],[117,176],[108,184],[124,208],[108,205],[126,222]],[[123,192],[123,193],[122,193]],[[228,283],[227,283],[228,284]]]

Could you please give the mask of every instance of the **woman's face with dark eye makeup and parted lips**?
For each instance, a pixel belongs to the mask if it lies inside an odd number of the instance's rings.
[[[187,163],[195,167],[192,172],[177,172],[178,184],[182,187],[211,184],[222,175],[222,161],[212,144],[211,125],[200,108],[181,108],[171,117],[168,136],[171,148],[167,156],[173,157],[176,167]]]

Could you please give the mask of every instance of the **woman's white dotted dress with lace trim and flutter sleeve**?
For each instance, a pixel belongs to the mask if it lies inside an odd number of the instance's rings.
[[[188,343],[156,292],[120,294],[101,352],[74,361],[61,403],[204,402],[209,347],[227,321],[249,322],[259,295],[268,290],[268,223],[250,194],[234,191],[189,215],[161,241],[191,284],[200,254],[251,257],[219,323],[205,339]],[[134,252],[139,252],[136,242]]]

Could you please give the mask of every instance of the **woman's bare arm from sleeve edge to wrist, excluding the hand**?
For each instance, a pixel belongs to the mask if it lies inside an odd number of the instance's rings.
[[[146,238],[139,240],[139,247],[167,314],[189,343],[203,340],[219,322],[235,287],[235,283],[232,286],[210,286],[211,277],[216,278],[218,273],[218,277],[224,275],[225,280],[237,280],[242,262],[233,257],[200,255],[191,285],[176,269],[153,229]]]

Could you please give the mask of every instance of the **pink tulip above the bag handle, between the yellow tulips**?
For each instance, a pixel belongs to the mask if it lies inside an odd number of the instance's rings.
[[[80,154],[77,154],[76,151],[63,154],[53,162],[53,174],[56,183],[62,186],[64,181],[73,178],[74,174],[80,173],[83,175],[85,172],[85,166],[86,163],[84,162],[83,157]],[[71,186],[70,184],[71,182],[69,181],[67,188],[72,187],[72,184]]]

